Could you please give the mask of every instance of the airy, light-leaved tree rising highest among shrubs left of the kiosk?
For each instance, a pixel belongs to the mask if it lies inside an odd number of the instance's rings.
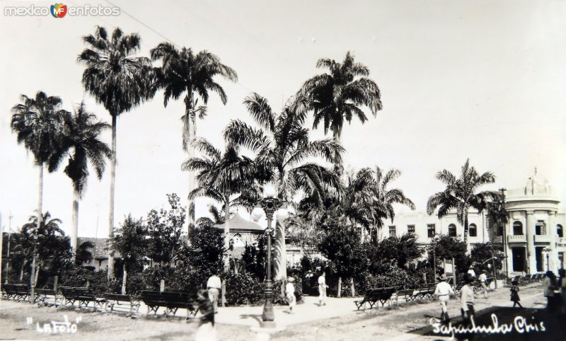
[[[180,198],[175,193],[167,195],[170,210],[152,209],[147,214],[147,228],[149,235],[148,255],[154,262],[161,262],[171,266],[179,258],[183,241],[181,232],[187,216],[185,207],[180,204]]]

